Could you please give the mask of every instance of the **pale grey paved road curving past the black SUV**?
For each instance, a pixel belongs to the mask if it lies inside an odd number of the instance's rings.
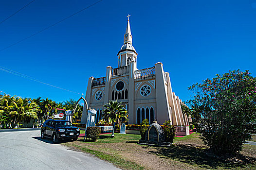
[[[76,152],[40,131],[0,132],[0,170],[118,170],[97,157]]]

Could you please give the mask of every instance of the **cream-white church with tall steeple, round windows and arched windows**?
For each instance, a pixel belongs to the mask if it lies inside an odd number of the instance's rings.
[[[188,126],[191,118],[182,113],[182,100],[172,91],[168,72],[162,63],[152,67],[138,69],[135,48],[132,46],[132,35],[128,16],[124,45],[117,53],[118,68],[107,67],[106,76],[90,77],[85,100],[97,114],[95,122],[103,118],[103,105],[110,100],[122,102],[128,110],[128,124],[140,124],[154,119],[159,124],[170,120],[172,125]],[[87,112],[84,106],[81,123],[86,123]]]

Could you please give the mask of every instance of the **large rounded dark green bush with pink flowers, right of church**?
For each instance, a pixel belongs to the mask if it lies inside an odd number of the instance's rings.
[[[189,101],[201,138],[215,153],[238,153],[256,133],[256,78],[229,71],[189,87]]]

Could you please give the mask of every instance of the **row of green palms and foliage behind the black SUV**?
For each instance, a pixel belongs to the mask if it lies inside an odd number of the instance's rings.
[[[45,119],[51,118],[57,108],[73,110],[75,101],[55,102],[51,99],[20,98],[11,95],[0,95],[0,128],[19,128],[24,123],[34,120],[34,126],[40,126]],[[83,106],[78,105],[73,119],[79,119]]]

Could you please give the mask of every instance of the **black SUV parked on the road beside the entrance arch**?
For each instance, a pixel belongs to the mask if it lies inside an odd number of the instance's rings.
[[[72,123],[68,120],[48,119],[41,127],[41,139],[50,137],[54,143],[57,143],[59,139],[77,140],[79,135],[80,129],[72,126]]]

